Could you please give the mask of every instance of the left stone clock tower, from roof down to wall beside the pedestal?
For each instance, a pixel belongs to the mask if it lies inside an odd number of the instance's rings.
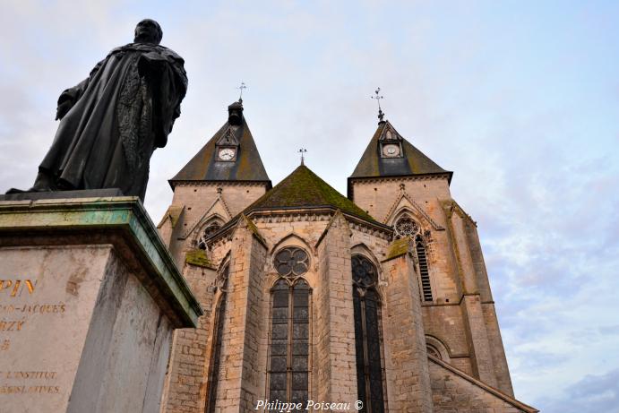
[[[243,110],[240,99],[228,106],[228,121],[168,181],[174,197],[159,222],[159,235],[205,315],[196,329],[175,331],[161,411],[205,409],[205,377],[210,374],[205,362],[210,357],[209,323],[213,307],[220,301],[212,285],[217,283],[218,263],[224,258],[218,254],[220,249],[207,251],[208,241],[271,189]],[[187,400],[188,394],[191,400]]]

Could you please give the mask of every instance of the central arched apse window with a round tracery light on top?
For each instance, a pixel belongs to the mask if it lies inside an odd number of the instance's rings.
[[[275,255],[281,278],[271,288],[269,399],[301,402],[309,398],[310,288],[299,276],[308,256],[297,247]]]

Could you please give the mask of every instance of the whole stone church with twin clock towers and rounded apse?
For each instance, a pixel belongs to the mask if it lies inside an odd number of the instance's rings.
[[[242,100],[169,180],[159,235],[204,315],[174,334],[162,413],[537,412],[452,172],[379,117],[348,196],[303,163],[272,186]]]

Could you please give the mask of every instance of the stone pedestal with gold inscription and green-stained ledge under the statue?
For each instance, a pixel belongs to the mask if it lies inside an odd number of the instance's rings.
[[[158,412],[201,314],[137,197],[0,202],[1,412]]]

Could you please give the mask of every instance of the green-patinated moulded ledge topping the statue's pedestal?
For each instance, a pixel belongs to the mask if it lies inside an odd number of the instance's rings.
[[[117,229],[137,249],[152,271],[151,281],[176,309],[182,327],[195,327],[202,307],[163,244],[159,233],[135,196],[0,202],[0,235]]]

